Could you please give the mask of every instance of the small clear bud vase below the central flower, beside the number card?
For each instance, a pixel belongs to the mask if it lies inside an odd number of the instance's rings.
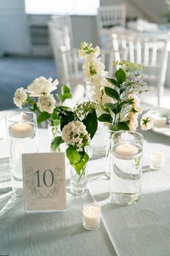
[[[86,166],[81,169],[80,174],[71,166],[70,191],[73,195],[82,195],[87,192],[87,170]]]

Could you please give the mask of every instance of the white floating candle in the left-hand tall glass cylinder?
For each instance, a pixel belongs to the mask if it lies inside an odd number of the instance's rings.
[[[31,124],[15,123],[9,127],[9,135],[16,138],[32,137],[34,135],[34,129]]]

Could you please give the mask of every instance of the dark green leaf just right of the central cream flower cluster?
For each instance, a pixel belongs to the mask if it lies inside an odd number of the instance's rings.
[[[94,137],[97,131],[97,113],[93,110],[91,113],[87,114],[86,118],[83,120],[86,126],[87,132],[90,134],[91,139]]]

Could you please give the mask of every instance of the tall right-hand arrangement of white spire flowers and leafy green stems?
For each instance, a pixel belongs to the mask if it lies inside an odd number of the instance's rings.
[[[104,64],[99,58],[99,47],[82,42],[78,54],[84,58],[84,79],[90,82],[90,93],[93,101],[99,103],[102,114],[99,121],[109,124],[111,131],[120,129],[135,132],[138,127],[140,93],[146,91],[146,83],[141,79],[144,67],[130,61],[114,61],[117,67],[115,77],[108,77]],[[144,114],[140,120],[141,129],[151,129],[153,119]]]

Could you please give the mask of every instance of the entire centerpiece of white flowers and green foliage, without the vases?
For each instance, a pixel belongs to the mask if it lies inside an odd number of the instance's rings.
[[[51,126],[60,126],[62,135],[55,135],[51,150],[66,143],[66,155],[81,177],[89,160],[86,147],[97,131],[98,120],[107,124],[110,131],[125,129],[135,132],[138,115],[142,113],[139,95],[146,91],[146,83],[141,80],[143,66],[129,61],[115,61],[115,77],[108,77],[99,58],[99,47],[93,48],[91,43],[82,42],[78,54],[84,59],[84,80],[89,82],[91,101],[73,109],[63,106],[72,97],[70,89],[63,85],[61,94],[54,94],[58,80],[38,77],[27,89],[16,90],[14,103],[19,108],[31,106],[30,110],[37,114],[37,123],[47,120]],[[151,129],[152,125],[151,117],[143,115],[141,129]]]

